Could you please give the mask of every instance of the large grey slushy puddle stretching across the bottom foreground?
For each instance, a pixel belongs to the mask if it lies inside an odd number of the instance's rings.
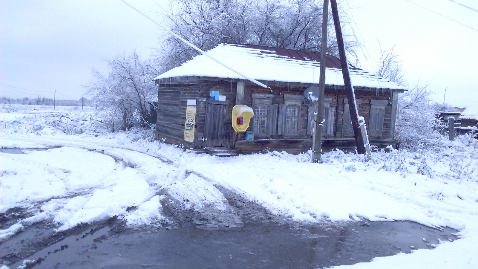
[[[451,235],[456,230],[412,222],[347,225],[343,231],[326,232],[313,225],[297,230],[249,220],[240,229],[163,227],[115,235],[104,227],[94,235],[68,236],[28,259],[44,258],[34,268],[324,268],[410,253],[410,246],[431,248],[426,244],[438,244],[438,238],[456,239]]]

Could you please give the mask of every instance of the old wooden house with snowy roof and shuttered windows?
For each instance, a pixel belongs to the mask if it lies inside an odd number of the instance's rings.
[[[187,148],[222,147],[238,153],[277,150],[297,154],[311,148],[317,103],[309,101],[304,91],[318,86],[320,54],[237,44],[220,44],[207,53],[269,88],[207,56],[196,56],[155,78],[159,87],[155,139]],[[350,76],[370,143],[395,147],[398,93],[405,88],[356,67],[350,67]],[[248,129],[253,140],[245,140],[244,133],[231,127],[236,104],[254,110]],[[353,149],[347,94],[339,59],[334,56],[326,60],[324,104],[323,149]]]

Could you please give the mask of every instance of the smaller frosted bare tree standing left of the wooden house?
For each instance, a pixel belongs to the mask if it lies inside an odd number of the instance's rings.
[[[158,73],[150,60],[142,61],[136,52],[122,53],[108,62],[106,74],[93,70],[88,91],[100,110],[122,118],[125,130],[135,123],[147,127],[150,103],[157,100],[152,79]]]

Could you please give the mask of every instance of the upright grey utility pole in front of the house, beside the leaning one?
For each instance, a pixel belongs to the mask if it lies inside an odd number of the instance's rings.
[[[320,46],[320,78],[317,115],[315,115],[314,150],[313,161],[319,161],[322,153],[322,130],[324,129],[324,90],[326,86],[326,60],[327,60],[327,22],[328,22],[328,0],[324,0],[322,9],[322,44]]]

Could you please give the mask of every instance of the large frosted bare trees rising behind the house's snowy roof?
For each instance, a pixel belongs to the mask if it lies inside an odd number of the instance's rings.
[[[320,52],[322,0],[176,0],[171,10],[171,30],[203,50],[236,43]],[[354,45],[347,42],[349,52]],[[169,35],[158,52],[165,69],[198,54]],[[335,34],[328,35],[327,53],[338,54]]]

